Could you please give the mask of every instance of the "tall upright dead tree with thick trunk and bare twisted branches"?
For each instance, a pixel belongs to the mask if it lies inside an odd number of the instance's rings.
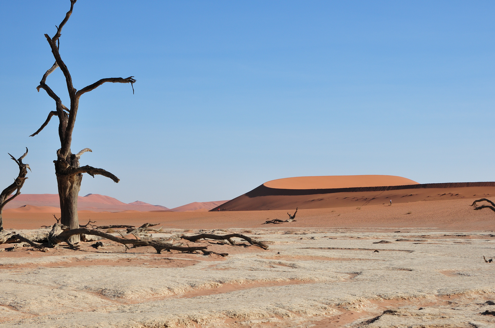
[[[112,83],[131,83],[131,86],[136,80],[133,77],[126,79],[123,78],[107,78],[101,79],[93,84],[90,84],[80,90],[77,90],[72,84],[72,77],[69,73],[69,69],[62,61],[59,53],[60,46],[60,36],[63,26],[67,23],[70,15],[72,14],[72,9],[77,0],[70,0],[70,10],[66,13],[65,18],[62,20],[57,28],[55,35],[50,38],[48,34],[45,34],[45,38],[51,49],[51,53],[55,58],[55,63],[51,68],[43,75],[40,85],[38,85],[38,92],[40,89],[44,89],[48,95],[55,101],[55,111],[51,111],[48,114],[48,118],[41,125],[41,127],[33,133],[31,136],[37,135],[47,124],[49,123],[51,117],[58,117],[58,136],[60,138],[60,149],[57,150],[57,160],[53,161],[55,164],[55,175],[57,177],[58,185],[58,196],[60,199],[60,212],[61,212],[61,223],[68,226],[70,229],[79,228],[79,220],[77,216],[77,196],[79,195],[79,190],[81,189],[81,180],[83,173],[88,173],[89,175],[95,177],[95,174],[106,176],[112,179],[114,182],[119,182],[117,178],[112,173],[93,166],[85,165],[79,166],[79,158],[85,152],[91,152],[89,148],[81,150],[77,154],[72,154],[70,149],[72,142],[72,131],[74,130],[74,124],[76,122],[76,115],[79,109],[79,99],[83,94],[89,92],[105,82]],[[62,71],[65,82],[67,84],[67,91],[70,98],[70,109],[62,104],[62,100],[58,97],[55,92],[46,83],[48,76],[58,68]],[[134,93],[134,87],[133,87]],[[74,235],[71,237],[72,243],[77,243],[79,241],[79,236]]]

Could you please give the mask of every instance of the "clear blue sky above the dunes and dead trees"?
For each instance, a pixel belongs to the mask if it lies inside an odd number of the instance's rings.
[[[69,0],[0,1],[0,189],[56,193],[43,36]],[[290,176],[494,181],[493,1],[79,0],[60,52],[83,95],[74,153],[98,193],[174,207]],[[48,84],[68,105],[60,70]]]

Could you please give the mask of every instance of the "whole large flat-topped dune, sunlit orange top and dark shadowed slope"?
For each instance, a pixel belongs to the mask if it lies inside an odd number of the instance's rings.
[[[363,177],[363,183],[358,180]],[[370,177],[370,178],[368,178]],[[379,177],[385,177],[380,180]],[[298,208],[329,208],[346,206],[382,205],[419,201],[483,198],[495,195],[495,182],[458,182],[419,184],[412,180],[390,175],[335,176],[287,178],[268,181],[212,211],[274,210]],[[349,184],[346,187],[345,178]],[[318,179],[321,181],[318,182]],[[287,181],[282,181],[287,180]],[[294,184],[291,184],[291,181]],[[409,185],[379,185],[381,182],[412,181]],[[363,186],[373,182],[372,186]],[[333,184],[332,184],[333,183]],[[298,188],[298,187],[331,188]],[[277,187],[277,188],[274,188]],[[284,188],[282,188],[284,187]]]

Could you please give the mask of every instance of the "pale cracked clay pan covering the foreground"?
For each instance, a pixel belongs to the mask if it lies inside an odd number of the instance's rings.
[[[48,252],[1,248],[0,323],[5,328],[495,327],[495,262],[483,259],[495,256],[493,232],[229,232],[265,241],[270,249],[204,240],[200,244],[208,249],[229,255],[153,254],[143,247],[125,252],[105,240],[99,249],[93,243]]]

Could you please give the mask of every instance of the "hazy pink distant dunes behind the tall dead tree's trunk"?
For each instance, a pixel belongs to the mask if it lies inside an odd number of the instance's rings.
[[[21,194],[13,199],[10,203],[8,203],[5,206],[5,210],[17,209],[24,205],[36,206],[36,210],[42,210],[42,207],[49,206],[56,208],[56,211],[60,212],[58,194]],[[35,210],[35,208],[28,207],[19,210],[27,211]],[[168,207],[161,205],[151,205],[140,201],[126,204],[109,196],[88,194],[84,197],[78,197],[78,210],[90,210],[96,212],[120,212],[125,210],[152,211],[168,210]],[[52,212],[52,210],[49,210],[49,212]]]

